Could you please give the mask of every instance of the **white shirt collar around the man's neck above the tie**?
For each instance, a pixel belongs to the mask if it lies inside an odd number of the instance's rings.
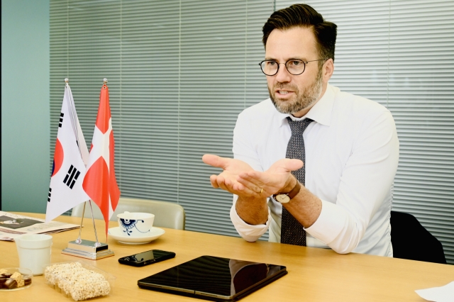
[[[314,107],[311,108],[311,110],[309,110],[308,113],[306,113],[305,116],[301,118],[295,118],[291,114],[278,112],[277,115],[279,117],[279,121],[281,121],[282,125],[284,119],[288,116],[292,118],[293,121],[300,121],[304,120],[304,118],[311,118],[311,120],[314,120],[317,123],[329,126],[331,124],[331,113],[333,111],[335,96],[336,94],[334,92],[334,87],[328,84],[326,86],[326,91],[321,99],[319,99],[319,101],[314,105]]]

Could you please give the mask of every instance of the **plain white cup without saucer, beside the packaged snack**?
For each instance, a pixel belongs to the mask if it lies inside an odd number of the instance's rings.
[[[19,267],[31,269],[33,276],[42,275],[44,267],[50,264],[52,236],[26,234],[14,238],[19,255]]]

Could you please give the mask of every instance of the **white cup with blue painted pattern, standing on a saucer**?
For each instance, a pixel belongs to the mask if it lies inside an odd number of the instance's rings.
[[[123,236],[145,237],[150,236],[155,216],[150,213],[124,212],[116,216],[118,227]]]

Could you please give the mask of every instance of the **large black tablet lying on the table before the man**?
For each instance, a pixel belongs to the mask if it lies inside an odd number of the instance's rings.
[[[282,265],[201,256],[138,281],[141,289],[237,301],[287,274]]]

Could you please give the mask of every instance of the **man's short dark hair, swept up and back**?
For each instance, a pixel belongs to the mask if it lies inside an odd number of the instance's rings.
[[[314,32],[320,59],[331,58],[334,60],[338,26],[325,21],[320,13],[307,4],[294,4],[287,9],[280,9],[272,13],[262,28],[263,46],[267,46],[267,40],[272,30],[287,30],[299,26],[311,28]]]

